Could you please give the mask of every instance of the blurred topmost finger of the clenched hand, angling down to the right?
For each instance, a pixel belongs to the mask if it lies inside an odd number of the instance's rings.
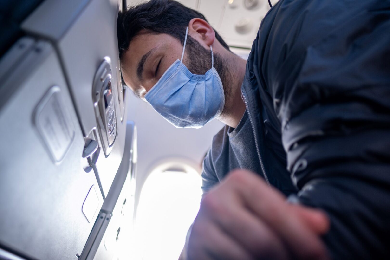
[[[289,210],[284,196],[248,171],[230,173],[227,183],[241,195],[243,203],[282,239],[299,259],[328,259],[318,235]]]

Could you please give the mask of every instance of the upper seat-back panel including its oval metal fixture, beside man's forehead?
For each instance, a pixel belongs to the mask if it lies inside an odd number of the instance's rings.
[[[86,148],[98,145],[87,159],[103,197],[121,163],[126,133],[119,8],[120,0],[46,0],[22,24],[27,34],[50,39],[58,50],[83,135],[92,145]]]

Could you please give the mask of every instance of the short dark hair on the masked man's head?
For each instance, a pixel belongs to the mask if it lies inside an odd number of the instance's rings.
[[[169,34],[184,44],[186,27],[193,18],[207,21],[203,14],[174,0],[151,0],[130,7],[119,14],[117,23],[119,57],[129,49],[129,43],[142,29],[155,34]],[[215,31],[216,39],[229,50],[229,46]]]

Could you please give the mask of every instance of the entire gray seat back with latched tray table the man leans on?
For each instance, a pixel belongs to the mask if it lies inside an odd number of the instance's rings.
[[[121,9],[122,0],[0,7],[0,259],[78,260],[104,202],[126,201]]]

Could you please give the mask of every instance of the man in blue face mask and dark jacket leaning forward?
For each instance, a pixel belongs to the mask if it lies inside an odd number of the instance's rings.
[[[126,85],[177,127],[227,125],[188,259],[388,257],[389,0],[280,0],[247,62],[177,2],[121,19]]]

